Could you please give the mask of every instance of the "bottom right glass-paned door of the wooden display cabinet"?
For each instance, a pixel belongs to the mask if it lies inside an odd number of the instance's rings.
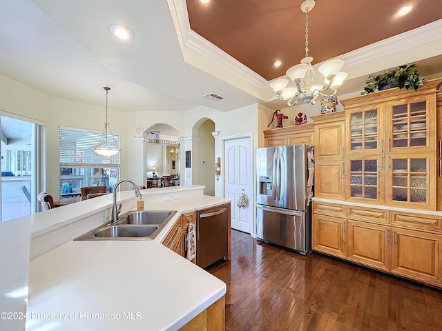
[[[436,208],[434,153],[390,154],[387,158],[385,203],[407,208]]]

